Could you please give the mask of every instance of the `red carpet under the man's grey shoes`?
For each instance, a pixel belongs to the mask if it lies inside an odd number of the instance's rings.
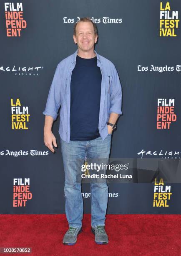
[[[108,245],[97,245],[91,216],[74,246],[62,244],[65,215],[0,215],[0,247],[31,247],[32,256],[181,255],[181,215],[107,215]],[[3,255],[3,254],[2,254]],[[20,255],[20,254],[4,254]]]

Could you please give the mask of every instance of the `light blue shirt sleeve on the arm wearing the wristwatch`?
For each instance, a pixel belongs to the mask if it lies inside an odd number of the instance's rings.
[[[122,115],[121,105],[122,105],[122,88],[119,80],[118,72],[116,67],[113,67],[113,78],[111,82],[111,95],[110,95],[110,109],[109,115],[111,113],[116,113]]]

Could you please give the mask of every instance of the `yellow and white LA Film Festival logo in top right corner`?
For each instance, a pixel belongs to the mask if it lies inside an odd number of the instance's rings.
[[[160,3],[160,36],[176,36],[178,28],[178,11],[171,11],[169,2]]]

